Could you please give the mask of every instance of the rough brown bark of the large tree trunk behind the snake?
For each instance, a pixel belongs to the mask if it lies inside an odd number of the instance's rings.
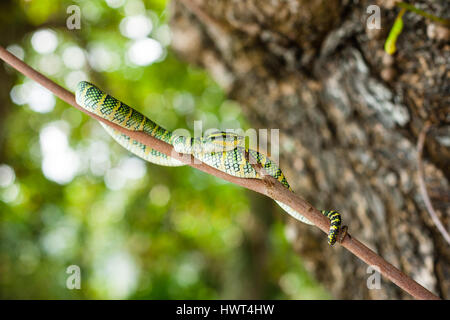
[[[450,298],[450,250],[424,206],[416,142],[425,121],[425,177],[450,226],[449,30],[407,12],[398,52],[384,41],[395,1],[173,0],[172,47],[206,68],[242,104],[254,128],[280,129],[280,162],[293,189],[335,208],[357,238],[416,281]],[[366,26],[369,5],[381,29]],[[448,1],[415,5],[449,18]],[[336,298],[409,296],[315,228],[292,223],[294,249]]]

